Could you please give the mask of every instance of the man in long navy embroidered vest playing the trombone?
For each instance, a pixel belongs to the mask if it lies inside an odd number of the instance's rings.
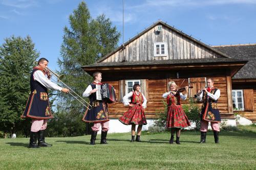
[[[37,62],[37,66],[33,68],[30,76],[31,93],[29,95],[26,109],[21,116],[22,118],[32,118],[29,148],[52,146],[52,144],[45,142],[47,120],[53,117],[49,105],[48,88],[65,93],[69,92],[69,89],[62,88],[49,80],[50,74],[47,66],[48,60],[40,58]],[[37,140],[38,144],[36,143]]]

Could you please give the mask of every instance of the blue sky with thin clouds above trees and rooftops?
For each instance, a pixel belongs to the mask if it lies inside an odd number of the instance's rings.
[[[0,44],[29,35],[40,57],[58,69],[63,28],[80,2],[0,0]],[[122,33],[122,0],[85,2],[92,17],[104,13]],[[256,0],[124,0],[124,41],[158,19],[210,45],[256,43]]]

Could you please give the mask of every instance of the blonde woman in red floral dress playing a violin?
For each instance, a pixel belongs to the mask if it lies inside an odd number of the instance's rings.
[[[163,94],[163,98],[167,102],[167,120],[166,128],[171,129],[170,144],[174,142],[174,133],[176,131],[176,143],[180,144],[181,128],[190,126],[188,118],[180,105],[180,99],[186,100],[188,86],[185,87],[186,93],[182,94],[181,90],[177,90],[177,85],[174,81],[168,83],[169,92]]]

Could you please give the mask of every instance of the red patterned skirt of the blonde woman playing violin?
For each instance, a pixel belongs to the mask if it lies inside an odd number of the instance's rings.
[[[168,106],[166,128],[186,128],[190,126],[188,118],[180,105]]]

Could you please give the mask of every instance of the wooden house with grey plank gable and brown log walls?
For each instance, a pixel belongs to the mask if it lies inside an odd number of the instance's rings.
[[[125,42],[124,47],[82,68],[90,75],[102,72],[102,81],[115,87],[119,102],[109,107],[111,124],[116,125],[117,118],[127,110],[121,103],[122,96],[132,90],[134,83],[141,84],[147,98],[146,118],[152,122],[163,110],[162,94],[168,91],[170,80],[180,87],[194,86],[189,90],[189,98],[193,98],[206,86],[207,78],[213,78],[215,87],[221,90],[218,108],[222,118],[235,124],[231,78],[246,63],[243,58],[230,57],[218,47],[206,45],[158,20]]]

